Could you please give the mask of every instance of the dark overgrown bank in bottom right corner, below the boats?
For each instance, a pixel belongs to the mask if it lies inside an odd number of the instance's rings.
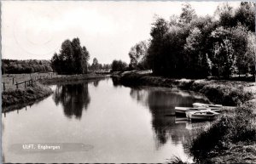
[[[202,130],[190,145],[195,160],[201,163],[255,162],[255,109],[255,102],[247,103]]]

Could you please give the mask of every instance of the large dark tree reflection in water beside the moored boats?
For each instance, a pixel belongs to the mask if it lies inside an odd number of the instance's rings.
[[[188,94],[160,91],[158,89],[134,89],[131,88],[131,98],[137,102],[148,106],[152,114],[152,127],[157,146],[166,144],[168,139],[172,139],[174,144],[184,142],[189,138],[189,130],[186,122],[177,122],[174,108],[175,106],[191,106],[195,101],[205,102],[204,99],[195,98]]]

